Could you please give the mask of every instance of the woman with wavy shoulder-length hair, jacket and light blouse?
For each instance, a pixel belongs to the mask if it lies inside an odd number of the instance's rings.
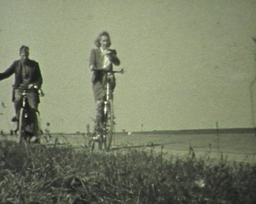
[[[96,48],[90,51],[90,71],[93,71],[91,78],[92,90],[96,102],[96,120],[95,133],[98,139],[102,133],[102,102],[106,92],[105,79],[106,72],[112,71],[113,65],[120,65],[117,52],[110,49],[111,41],[107,31],[102,31],[95,41]],[[115,78],[113,77],[112,88],[115,87]]]

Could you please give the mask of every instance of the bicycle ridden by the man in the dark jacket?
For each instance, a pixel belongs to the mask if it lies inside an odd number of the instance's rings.
[[[38,94],[38,96],[43,97],[44,93],[42,89],[38,89],[37,86],[34,86],[33,88],[15,88],[20,90],[22,92],[21,94],[21,100],[20,100],[20,111],[19,111],[19,121],[18,121],[18,143],[21,143],[22,141],[30,142],[32,137],[34,136],[35,142],[40,143],[40,135],[42,133],[41,125],[40,125],[40,118],[39,118],[39,112],[36,111],[36,113],[32,113],[31,108],[27,101],[27,93],[28,92],[34,92]],[[32,116],[32,114],[35,114]],[[32,122],[32,118],[34,119],[33,122],[35,122],[35,129],[36,133],[35,135],[31,135],[26,132],[26,127]]]

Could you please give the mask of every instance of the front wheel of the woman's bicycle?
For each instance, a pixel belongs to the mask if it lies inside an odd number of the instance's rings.
[[[107,104],[107,113],[104,114],[103,122],[103,144],[105,150],[109,150],[113,138],[113,100],[109,99]]]

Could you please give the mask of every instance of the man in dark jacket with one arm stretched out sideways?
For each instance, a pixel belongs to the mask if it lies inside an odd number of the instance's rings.
[[[12,118],[12,122],[15,122],[18,130],[20,103],[22,99],[22,88],[28,88],[32,91],[28,91],[27,102],[30,107],[30,116],[32,117],[31,122],[26,127],[26,133],[30,136],[36,136],[37,131],[37,117],[38,104],[40,103],[38,91],[33,91],[34,88],[40,89],[43,83],[43,78],[38,65],[38,62],[28,58],[29,48],[26,46],[20,47],[20,59],[15,60],[10,67],[0,73],[0,81],[15,74],[15,84],[13,85],[13,98],[12,101],[15,104],[15,116]]]

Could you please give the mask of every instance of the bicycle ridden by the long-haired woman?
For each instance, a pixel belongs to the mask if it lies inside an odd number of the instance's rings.
[[[91,150],[94,150],[95,144],[98,144],[99,150],[109,150],[112,144],[113,139],[113,127],[114,127],[114,116],[113,116],[113,77],[114,73],[121,73],[124,74],[124,70],[121,69],[120,71],[105,71],[106,78],[105,78],[105,88],[106,93],[103,97],[102,103],[102,133],[100,134],[100,138],[89,140],[89,146]]]

